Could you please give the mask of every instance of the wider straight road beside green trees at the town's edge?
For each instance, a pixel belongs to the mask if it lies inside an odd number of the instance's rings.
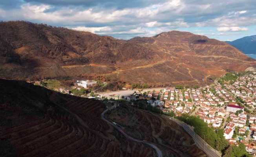
[[[163,115],[163,117],[170,119],[170,117],[166,115]],[[207,144],[207,142],[205,142],[199,135],[194,132],[194,128],[192,128],[192,126],[189,126],[188,124],[177,119],[172,120],[179,124],[179,126],[181,126],[193,138],[197,147],[203,150],[209,157],[221,157],[221,154],[217,150],[214,150]]]

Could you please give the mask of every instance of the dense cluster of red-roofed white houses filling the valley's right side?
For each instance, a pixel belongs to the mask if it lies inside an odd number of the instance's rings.
[[[245,75],[232,85],[150,91],[147,99],[149,104],[164,112],[173,111],[177,116],[182,113],[197,115],[210,127],[223,128],[224,137],[230,144],[242,142],[247,152],[253,155],[256,150],[252,144],[252,140],[256,141],[256,116],[247,113],[247,110],[256,107],[255,96],[256,76]],[[153,97],[158,100],[151,100]],[[238,135],[234,135],[235,130]]]

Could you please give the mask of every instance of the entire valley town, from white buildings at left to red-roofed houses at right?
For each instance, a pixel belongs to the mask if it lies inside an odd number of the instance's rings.
[[[241,74],[240,74],[241,75]],[[144,100],[144,108],[154,108],[165,115],[179,117],[183,114],[196,116],[208,127],[223,130],[223,136],[230,145],[242,143],[251,155],[256,153],[256,72],[227,73],[215,86],[185,88],[176,86],[161,89],[133,89],[132,94],[97,94],[89,89],[97,84],[95,80],[77,80],[71,90],[55,88],[61,93],[79,95],[98,100],[125,100],[135,106]],[[103,82],[106,85],[106,82]],[[42,81],[35,82],[43,86]],[[125,88],[123,89],[125,90]],[[75,91],[82,91],[77,94]],[[79,92],[78,92],[79,93]],[[137,104],[138,105],[138,104]]]

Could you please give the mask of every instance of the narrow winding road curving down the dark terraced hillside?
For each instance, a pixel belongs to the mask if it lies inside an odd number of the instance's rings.
[[[104,117],[104,114],[108,111],[105,110],[102,112],[101,114],[101,118],[106,121],[108,124],[112,125],[114,128],[116,128],[117,130],[119,130],[123,135],[124,137],[126,137],[127,139],[130,139],[132,141],[135,141],[135,142],[140,142],[140,143],[144,143],[144,144],[148,144],[150,147],[152,147],[156,152],[157,152],[157,156],[158,157],[163,157],[163,153],[161,152],[161,150],[159,150],[159,148],[157,146],[155,146],[154,144],[152,144],[151,142],[148,142],[148,141],[141,141],[141,140],[138,140],[138,139],[134,139],[133,137],[130,137],[129,135],[127,135],[121,128],[119,128],[118,126],[114,125],[112,122],[108,121],[105,119]]]

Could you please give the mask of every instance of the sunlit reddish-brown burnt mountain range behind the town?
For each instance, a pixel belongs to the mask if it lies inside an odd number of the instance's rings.
[[[118,40],[30,22],[0,23],[0,77],[105,77],[130,83],[207,84],[256,62],[225,42],[189,32]]]

